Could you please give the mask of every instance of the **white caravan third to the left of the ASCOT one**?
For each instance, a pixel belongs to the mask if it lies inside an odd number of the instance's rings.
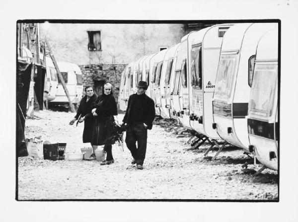
[[[160,116],[164,119],[171,118],[170,114],[170,77],[173,68],[173,60],[177,47],[176,44],[171,46],[164,55],[164,61],[161,69],[161,76],[159,86],[156,90],[159,90],[160,94]],[[166,96],[167,95],[167,96]]]

